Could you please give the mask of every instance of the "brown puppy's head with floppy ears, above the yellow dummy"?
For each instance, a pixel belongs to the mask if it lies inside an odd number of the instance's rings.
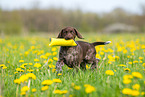
[[[75,28],[66,27],[66,28],[61,30],[61,32],[59,33],[57,38],[64,38],[66,40],[69,40],[69,39],[74,40],[76,36],[80,39],[83,39],[81,34]]]

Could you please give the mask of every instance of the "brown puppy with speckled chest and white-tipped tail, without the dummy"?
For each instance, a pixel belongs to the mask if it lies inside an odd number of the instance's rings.
[[[58,38],[65,38],[75,40],[75,37],[83,39],[81,34],[73,27],[66,27],[59,33]],[[96,59],[96,45],[109,44],[108,42],[94,42],[88,43],[83,41],[76,41],[77,46],[61,46],[59,51],[59,60],[56,63],[57,72],[62,71],[62,66],[66,64],[70,68],[79,67],[86,69],[86,64],[92,64],[91,69],[96,68],[99,59]]]

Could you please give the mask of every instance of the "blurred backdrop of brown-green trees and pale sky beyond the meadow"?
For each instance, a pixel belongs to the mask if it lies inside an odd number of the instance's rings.
[[[0,33],[144,33],[145,0],[0,0]]]

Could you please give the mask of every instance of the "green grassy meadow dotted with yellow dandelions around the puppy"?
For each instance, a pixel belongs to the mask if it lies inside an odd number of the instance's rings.
[[[0,38],[0,97],[145,96],[145,34],[82,35],[112,43],[96,46],[95,71],[65,65],[63,74],[55,69],[59,46],[49,47],[56,35]]]

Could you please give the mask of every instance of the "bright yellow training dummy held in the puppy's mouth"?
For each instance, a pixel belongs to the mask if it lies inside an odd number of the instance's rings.
[[[63,38],[50,38],[49,46],[76,46],[73,39],[65,40]]]

